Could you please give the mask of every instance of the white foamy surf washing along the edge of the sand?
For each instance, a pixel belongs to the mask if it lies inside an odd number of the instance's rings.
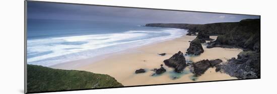
[[[183,36],[186,30],[163,28],[160,31],[53,37],[27,40],[27,63],[52,66],[86,59],[154,42]]]

